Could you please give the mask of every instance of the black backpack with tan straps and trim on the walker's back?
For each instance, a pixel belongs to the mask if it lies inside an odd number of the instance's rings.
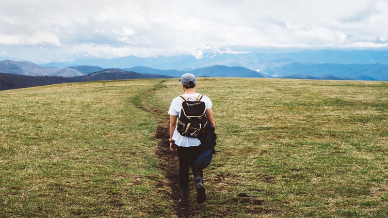
[[[183,102],[177,130],[182,136],[197,138],[208,123],[205,115],[205,102],[201,101],[203,94],[200,94],[195,101],[190,101],[182,95],[179,97],[183,99]]]

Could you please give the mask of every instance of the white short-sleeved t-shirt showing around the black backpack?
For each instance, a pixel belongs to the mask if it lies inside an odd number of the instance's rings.
[[[199,93],[183,94],[183,96],[186,98],[191,98],[190,100],[195,101],[195,99],[199,96]],[[212,104],[208,96],[204,95],[201,101],[205,102],[205,109],[211,108]],[[178,117],[180,117],[182,102],[183,102],[183,99],[181,97],[178,96],[174,98],[173,101],[171,102],[170,109],[168,110],[168,114],[178,115]],[[180,135],[180,133],[177,130],[177,127],[175,128],[172,140],[174,140],[175,144],[177,144],[179,147],[192,147],[192,146],[198,146],[201,144],[201,141],[198,140],[197,138],[184,137]]]

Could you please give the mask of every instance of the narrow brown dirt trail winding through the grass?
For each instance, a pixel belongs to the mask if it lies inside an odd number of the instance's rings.
[[[162,82],[164,82],[164,80]],[[148,96],[148,94],[155,92],[156,90],[162,87],[163,85],[162,83],[160,83],[160,86],[154,89],[150,89],[147,92],[145,99],[142,99],[142,103],[145,106],[143,109],[149,113],[156,115],[156,117],[159,117],[161,119],[158,122],[156,126],[157,127],[156,131],[154,133],[154,138],[159,141],[156,146],[155,154],[159,158],[159,160],[163,163],[162,171],[165,172],[164,176],[166,178],[165,181],[162,181],[160,186],[168,185],[170,187],[172,192],[169,193],[168,195],[174,201],[174,204],[172,206],[174,207],[174,210],[176,211],[178,218],[194,217],[194,215],[198,215],[197,213],[198,205],[196,205],[196,202],[191,201],[190,205],[188,206],[178,205],[178,200],[180,199],[179,177],[178,177],[179,164],[178,164],[177,152],[170,151],[170,142],[169,142],[170,117],[168,116],[167,111],[161,111],[159,109],[154,108],[152,105],[149,105],[146,103],[146,97]],[[190,194],[194,196],[195,190],[191,189]]]

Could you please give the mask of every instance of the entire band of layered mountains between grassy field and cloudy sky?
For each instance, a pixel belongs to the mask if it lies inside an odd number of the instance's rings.
[[[198,77],[388,81],[388,51],[308,50],[294,53],[208,53],[202,58],[189,55],[149,58],[128,56],[41,65],[28,61],[3,60],[0,61],[0,73],[3,73],[0,74],[0,82],[3,86],[7,83],[7,79],[12,78],[12,81],[17,82],[17,79],[14,79],[15,76],[10,76],[10,74],[36,76],[39,79],[23,77],[19,81],[45,80],[48,81],[48,84],[52,84],[53,80],[71,82],[180,77],[184,73],[192,73]],[[6,74],[8,76],[5,76]],[[69,80],[64,78],[69,78]],[[32,82],[23,82],[23,84],[31,85]]]

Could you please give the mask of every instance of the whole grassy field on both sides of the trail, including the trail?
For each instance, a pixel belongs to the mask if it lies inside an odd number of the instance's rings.
[[[388,217],[388,83],[198,78],[208,201],[163,153],[178,79],[0,92],[0,217]],[[166,138],[166,139],[165,139]]]

